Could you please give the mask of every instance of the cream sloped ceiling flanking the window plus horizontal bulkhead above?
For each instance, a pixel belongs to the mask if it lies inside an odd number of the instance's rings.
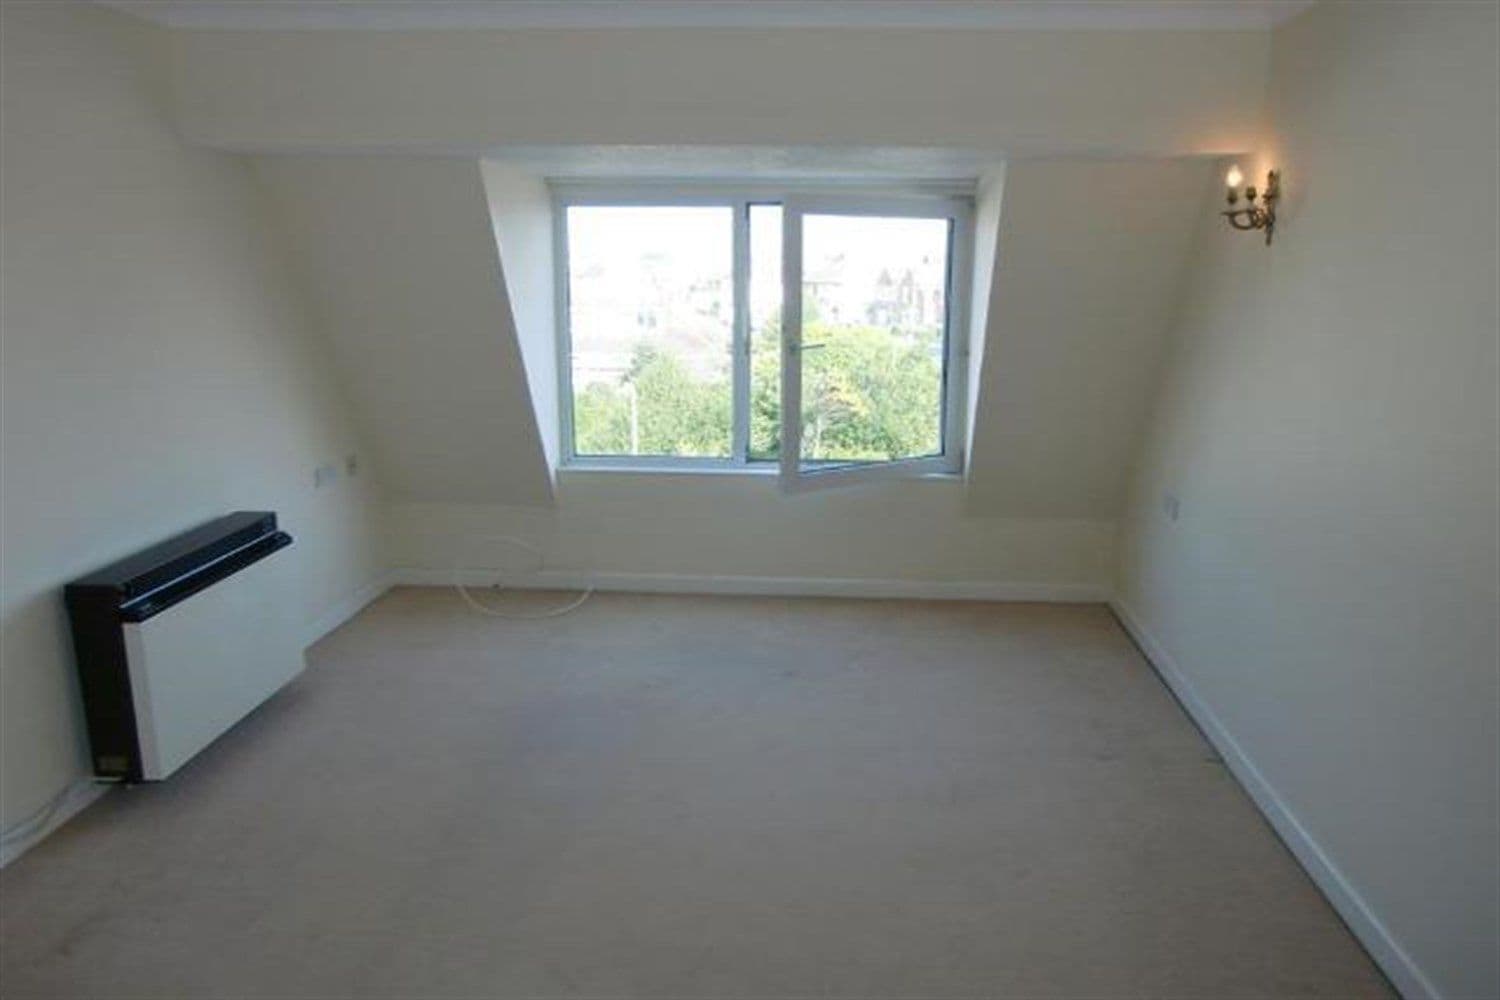
[[[999,199],[981,198],[996,267],[964,510],[1072,519],[1118,510],[1209,163],[1254,148],[1269,45],[1244,30],[166,34],[176,126],[256,157],[393,499],[554,499],[550,250],[534,205],[507,201],[558,172],[538,163],[566,150],[562,172],[620,175],[718,150],[741,175],[1008,163]],[[508,168],[482,166],[507,151]]]

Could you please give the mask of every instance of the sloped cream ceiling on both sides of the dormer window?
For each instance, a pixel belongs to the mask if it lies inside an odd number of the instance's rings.
[[[548,226],[525,223],[537,235],[519,244],[500,231],[546,211],[540,181],[456,157],[266,157],[260,171],[393,498],[550,504]],[[980,240],[996,250],[966,513],[1116,514],[1212,174],[1208,159],[1047,159],[986,186],[998,211],[980,213]]]

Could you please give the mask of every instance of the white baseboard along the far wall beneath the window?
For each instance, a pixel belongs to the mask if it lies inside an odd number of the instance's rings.
[[[406,567],[392,579],[406,586],[453,586],[452,570]],[[519,579],[464,570],[465,586],[502,583],[518,589],[636,591],[644,594],[738,594],[747,597],[862,597],[922,601],[1036,601],[1104,604],[1108,589],[1090,583],[1010,583],[999,580],[888,580],[856,577],[710,576],[690,573],[570,573],[548,570]]]

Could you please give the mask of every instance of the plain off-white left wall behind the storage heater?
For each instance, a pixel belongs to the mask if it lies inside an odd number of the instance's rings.
[[[0,826],[87,774],[60,586],[236,508],[280,513],[309,627],[378,573],[358,448],[249,169],[160,111],[154,28],[4,3]]]

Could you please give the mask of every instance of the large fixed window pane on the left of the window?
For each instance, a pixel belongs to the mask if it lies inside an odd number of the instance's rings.
[[[573,450],[728,457],[734,211],[570,205]]]

